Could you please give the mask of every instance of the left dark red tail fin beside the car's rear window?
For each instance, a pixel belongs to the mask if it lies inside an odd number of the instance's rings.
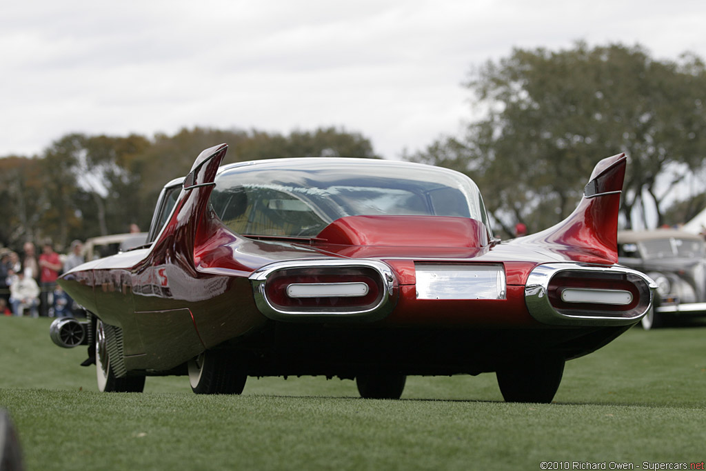
[[[218,167],[228,150],[227,144],[216,145],[204,150],[196,157],[191,171],[186,175],[183,190],[174,204],[172,215],[157,236],[152,246],[152,256],[168,258],[173,256],[183,266],[194,267],[193,250],[199,229],[208,226],[212,220],[208,210],[210,197]],[[160,263],[160,261],[152,261]],[[162,261],[164,263],[164,261]]]

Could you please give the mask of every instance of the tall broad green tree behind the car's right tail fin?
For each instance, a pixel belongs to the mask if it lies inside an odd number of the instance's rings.
[[[621,152],[630,159],[624,220],[650,203],[662,224],[665,198],[681,179],[668,178],[666,167],[703,165],[706,72],[694,55],[660,61],[640,46],[582,42],[514,49],[472,71],[465,86],[484,117],[410,157],[476,179],[506,232],[513,221],[542,229],[566,217],[593,165]]]

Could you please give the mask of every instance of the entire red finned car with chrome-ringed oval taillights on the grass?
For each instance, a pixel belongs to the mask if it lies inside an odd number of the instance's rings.
[[[566,360],[650,309],[652,280],[616,265],[624,155],[598,163],[566,220],[501,243],[458,172],[220,167],[226,151],[164,187],[148,244],[59,280],[88,321],[57,319],[52,339],[89,345],[100,390],[185,375],[196,393],[238,394],[247,376],[323,375],[400,398],[407,375],[495,371],[505,400],[549,402]]]

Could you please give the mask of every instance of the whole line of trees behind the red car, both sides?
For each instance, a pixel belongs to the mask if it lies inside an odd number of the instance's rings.
[[[566,217],[603,157],[626,153],[621,225],[656,213],[685,222],[706,193],[683,201],[674,189],[705,170],[706,68],[695,54],[658,60],[640,45],[513,49],[472,68],[465,88],[477,119],[402,158],[450,167],[479,185],[496,232],[531,231]],[[167,181],[189,171],[201,150],[230,145],[227,160],[289,156],[379,157],[368,138],[321,128],[289,135],[182,129],[157,134],[74,133],[37,157],[0,158],[0,244],[146,229]]]

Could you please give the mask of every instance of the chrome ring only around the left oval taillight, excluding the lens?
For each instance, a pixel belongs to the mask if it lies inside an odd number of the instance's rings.
[[[284,311],[277,309],[270,302],[265,292],[265,285],[268,278],[281,270],[292,268],[371,268],[380,275],[383,285],[383,293],[380,301],[375,306],[368,309],[342,309],[336,311]],[[377,321],[385,318],[397,304],[400,290],[397,288],[397,279],[392,268],[387,264],[367,259],[353,260],[350,258],[306,258],[301,260],[287,260],[265,265],[255,270],[249,277],[253,286],[255,304],[262,314],[275,321],[311,321],[325,320],[332,321],[336,318],[357,318],[361,321]]]

